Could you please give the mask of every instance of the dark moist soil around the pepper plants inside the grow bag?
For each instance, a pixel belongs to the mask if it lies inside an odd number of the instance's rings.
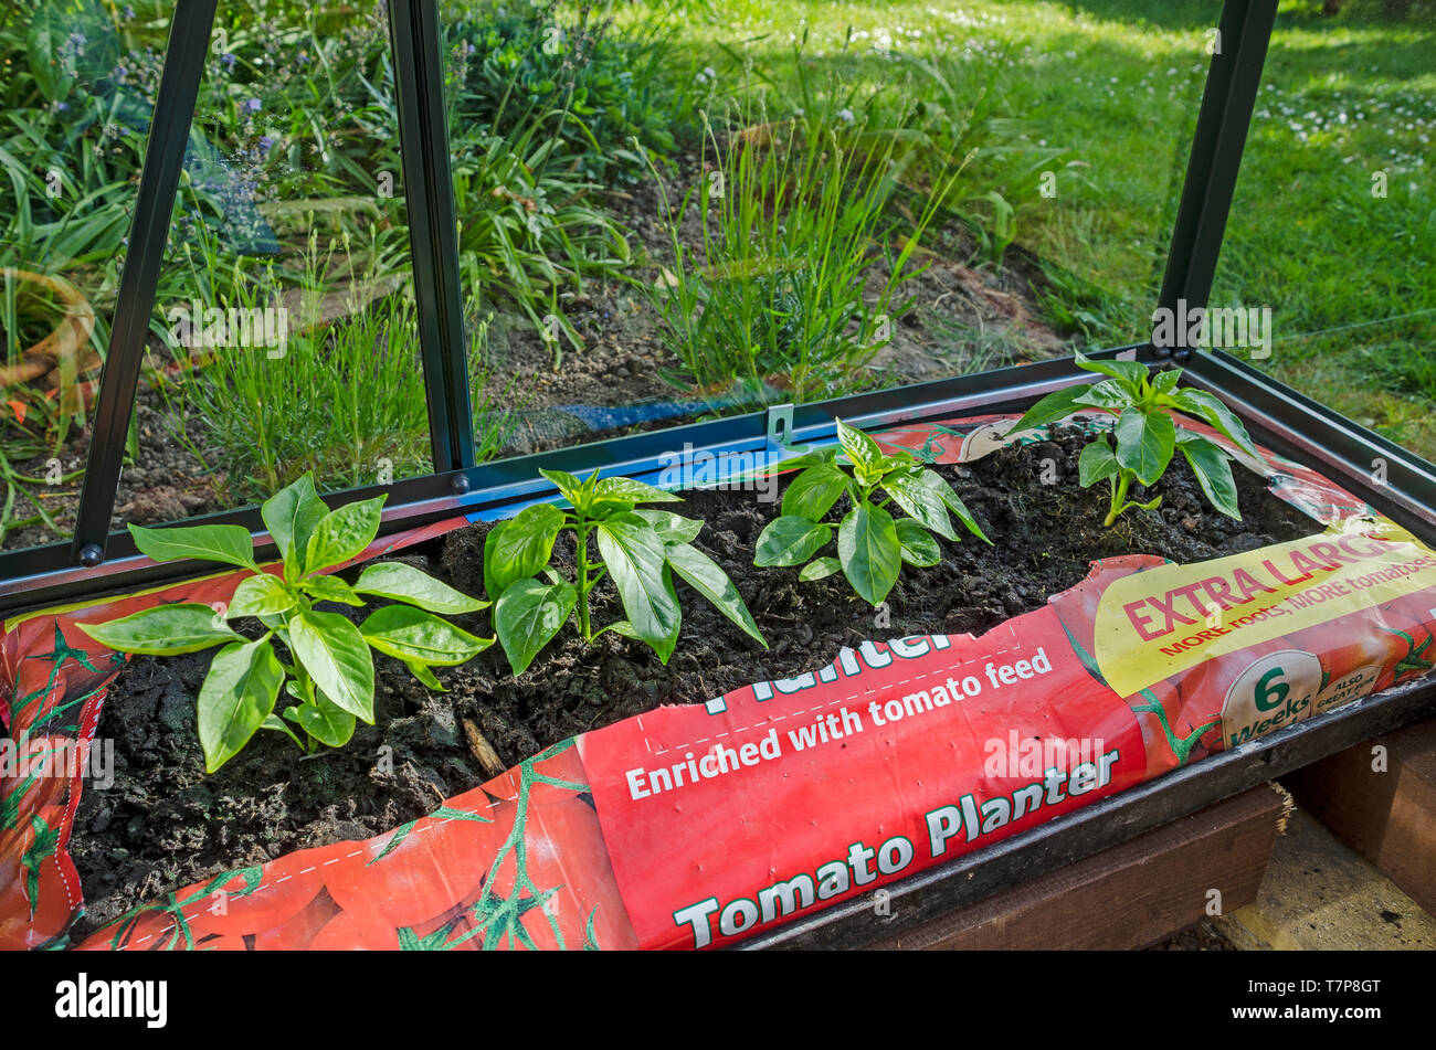
[[[1104,529],[1106,496],[1076,482],[1081,443],[1078,432],[1066,429],[1053,442],[938,468],[999,545],[968,536],[943,544],[939,565],[905,569],[882,625],[841,575],[801,584],[796,569],[751,565],[758,532],[777,503],[758,502],[751,492],[686,493],[678,509],[708,524],[698,547],[738,584],[771,648],[758,647],[679,582],[684,627],[668,667],[648,647],[612,633],[586,647],[572,624],[517,680],[498,645],[462,667],[438,668],[444,694],[429,693],[381,656],[378,726],[360,726],[350,746],[310,759],[287,737],[261,732],[237,759],[205,776],[194,697],[211,653],[136,658],[111,689],[99,724],[98,736],[115,740],[115,783],[88,789],[76,816],[70,851],[89,912],[75,938],[135,904],[228,868],[368,838],[422,816],[497,772],[484,769],[477,737],[510,766],[659,704],[702,701],[817,668],[840,647],[867,638],[981,634],[1077,584],[1096,558],[1144,552],[1195,562],[1320,531],[1239,466],[1245,521],[1223,518],[1205,503],[1185,462],[1173,463],[1155,488],[1163,495],[1159,511],[1129,512]],[[1043,483],[1044,460],[1057,463],[1055,485]],[[471,525],[405,557],[481,594],[487,529]],[[563,539],[557,562],[572,569],[573,548]],[[617,608],[616,595],[600,585],[595,623],[617,618]],[[488,635],[487,615],[458,623]]]

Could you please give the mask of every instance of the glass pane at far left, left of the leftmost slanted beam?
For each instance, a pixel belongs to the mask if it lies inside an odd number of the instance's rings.
[[[93,4],[0,9],[0,547],[66,539],[109,339],[145,69]],[[128,65],[126,65],[128,63]]]

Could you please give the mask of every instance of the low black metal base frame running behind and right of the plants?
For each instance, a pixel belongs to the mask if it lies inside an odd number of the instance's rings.
[[[1091,357],[1133,356],[1149,366],[1163,361],[1150,349],[1124,347],[1096,351]],[[956,415],[1018,412],[1053,390],[1071,383],[1094,382],[1070,359],[1020,364],[916,386],[853,394],[798,406],[794,410],[793,440],[801,443],[831,436],[833,419],[843,417],[862,427],[942,419]],[[1241,364],[1225,353],[1200,353],[1183,374],[1183,382],[1228,402],[1244,417],[1254,439],[1298,460],[1313,463],[1422,541],[1436,545],[1436,466],[1371,433],[1338,413],[1324,409],[1295,390]],[[665,462],[685,446],[701,450],[755,450],[767,448],[765,413],[750,413],[691,423],[663,430],[577,445],[553,452],[497,460],[441,475],[398,481],[388,486],[365,486],[325,493],[330,505],[388,495],[381,535],[424,525],[442,518],[487,512],[553,495],[553,486],[538,476],[538,468],[656,479]],[[1373,463],[1381,463],[1379,483]],[[191,518],[182,525],[238,524],[250,529],[260,559],[276,557],[256,508]],[[67,548],[46,548],[0,554],[0,615],[43,608],[60,601],[99,600],[138,587],[158,585],[204,571],[208,562],[151,562],[126,534],[111,536],[115,557],[98,568],[69,562]]]

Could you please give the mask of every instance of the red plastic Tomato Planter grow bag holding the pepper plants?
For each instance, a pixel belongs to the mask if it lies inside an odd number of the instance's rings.
[[[1010,435],[1014,420],[875,436],[965,462],[1041,436]],[[981,637],[869,641],[794,678],[659,707],[383,835],[182,888],[80,947],[737,942],[854,897],[880,902],[877,891],[925,868],[1426,674],[1436,555],[1318,473],[1231,450],[1327,531],[1193,565],[1103,559]],[[0,786],[0,945],[57,944],[82,908],[66,843],[123,657],[75,624],[220,601],[241,575],[6,624],[0,716],[16,743]]]

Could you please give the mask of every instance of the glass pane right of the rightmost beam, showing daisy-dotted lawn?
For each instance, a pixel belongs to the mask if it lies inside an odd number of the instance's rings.
[[[1267,320],[1232,353],[1432,459],[1436,11],[1325,7],[1277,20],[1212,304]]]

